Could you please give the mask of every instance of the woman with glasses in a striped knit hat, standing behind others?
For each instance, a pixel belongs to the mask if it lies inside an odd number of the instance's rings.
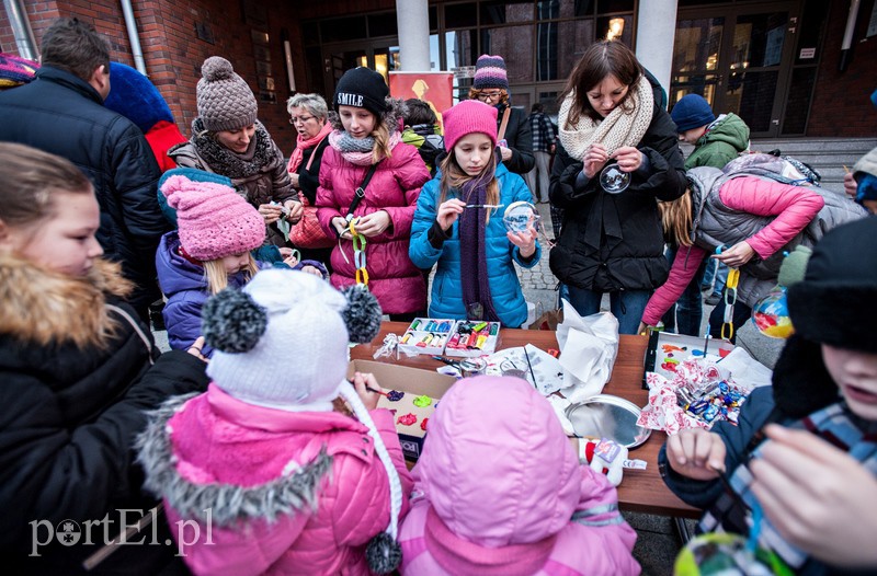
[[[477,99],[497,108],[497,145],[502,153],[502,163],[510,172],[526,174],[536,165],[533,155],[533,136],[529,119],[522,108],[509,102],[509,79],[502,56],[483,54],[475,67],[475,81],[469,89],[469,99]],[[503,124],[505,130],[503,131]]]

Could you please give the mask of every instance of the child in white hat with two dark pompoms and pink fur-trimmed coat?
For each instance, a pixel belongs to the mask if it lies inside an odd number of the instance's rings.
[[[411,480],[375,378],[345,378],[348,343],[380,326],[374,297],[267,269],[212,297],[202,318],[213,382],[166,403],[139,439],[146,485],[164,499],[189,568],[395,569]],[[338,398],[355,417],[333,408]]]

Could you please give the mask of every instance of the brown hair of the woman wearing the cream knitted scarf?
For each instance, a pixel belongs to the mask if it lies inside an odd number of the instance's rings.
[[[560,95],[560,102],[562,102],[568,94],[576,94],[576,102],[570,111],[568,122],[570,124],[578,123],[582,114],[594,120],[603,119],[600,113],[591,106],[588,91],[610,74],[617,78],[622,84],[630,87],[627,95],[618,105],[625,112],[633,112],[630,94],[642,73],[642,65],[637,60],[637,56],[619,41],[602,41],[592,44],[584,50],[576,68],[572,69],[572,73],[567,80],[567,87]]]

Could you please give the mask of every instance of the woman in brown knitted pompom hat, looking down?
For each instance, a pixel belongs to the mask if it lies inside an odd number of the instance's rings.
[[[168,155],[180,166],[231,178],[238,194],[264,218],[266,242],[285,246],[276,222],[282,218],[297,222],[304,207],[289,181],[283,152],[255,119],[255,96],[231,62],[212,56],[204,60],[201,73],[192,138],[168,150]]]

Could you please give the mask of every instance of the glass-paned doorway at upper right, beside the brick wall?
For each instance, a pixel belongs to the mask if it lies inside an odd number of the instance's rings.
[[[733,112],[752,137],[782,134],[798,2],[680,10],[669,104],[701,94],[718,116]]]

